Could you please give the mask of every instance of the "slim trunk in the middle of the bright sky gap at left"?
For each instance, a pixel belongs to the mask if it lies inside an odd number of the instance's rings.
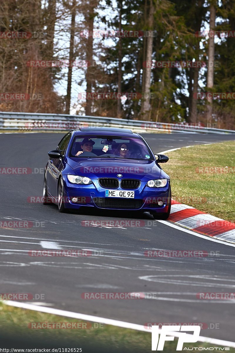
[[[70,44],[69,44],[69,68],[68,68],[67,96],[66,96],[66,109],[65,109],[66,114],[70,114],[71,86],[72,86],[72,62],[74,61],[75,16],[76,16],[76,0],[73,0],[71,29],[70,29]]]

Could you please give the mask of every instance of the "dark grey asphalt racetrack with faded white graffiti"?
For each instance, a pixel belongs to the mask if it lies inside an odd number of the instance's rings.
[[[143,134],[154,152],[234,140],[218,134]],[[200,335],[234,341],[234,300],[198,299],[199,292],[235,292],[235,247],[153,223],[148,213],[59,213],[56,205],[31,203],[42,196],[47,152],[62,134],[1,134],[0,167],[31,168],[31,174],[0,175],[0,220],[33,222],[31,228],[0,229],[1,292],[44,294],[36,305],[145,323],[206,323]],[[163,165],[164,169],[164,165]],[[43,169],[42,169],[43,170]],[[141,220],[141,227],[84,227],[84,221]],[[42,222],[42,223],[41,223]],[[126,223],[127,224],[127,223]],[[181,230],[182,229],[182,230]],[[88,249],[99,256],[32,257],[30,250]],[[219,251],[217,257],[150,258],[147,249]],[[151,299],[83,299],[84,292],[154,292]],[[213,329],[217,327],[217,329]]]

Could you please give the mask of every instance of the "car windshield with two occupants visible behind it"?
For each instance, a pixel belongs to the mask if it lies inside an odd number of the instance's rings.
[[[75,136],[70,157],[154,160],[153,153],[142,139],[110,135]]]

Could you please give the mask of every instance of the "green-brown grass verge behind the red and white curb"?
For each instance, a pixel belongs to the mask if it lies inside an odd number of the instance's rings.
[[[197,145],[167,153],[172,198],[235,222],[235,141]],[[221,168],[215,168],[221,167]]]

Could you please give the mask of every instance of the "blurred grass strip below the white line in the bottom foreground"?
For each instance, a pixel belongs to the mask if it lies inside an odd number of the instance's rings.
[[[63,323],[84,321],[25,310],[0,302],[1,347],[82,348],[82,352],[151,352],[151,334],[101,324],[90,329],[30,329],[32,323]],[[84,322],[86,325],[87,323]],[[90,323],[91,326],[94,323]],[[98,324],[97,324],[98,325]],[[40,327],[40,325],[39,325]],[[203,334],[201,331],[201,335]],[[177,339],[165,342],[164,351],[175,353]],[[208,343],[185,343],[184,347],[214,347]],[[193,352],[201,350],[193,349]],[[230,348],[230,353],[235,353]]]

